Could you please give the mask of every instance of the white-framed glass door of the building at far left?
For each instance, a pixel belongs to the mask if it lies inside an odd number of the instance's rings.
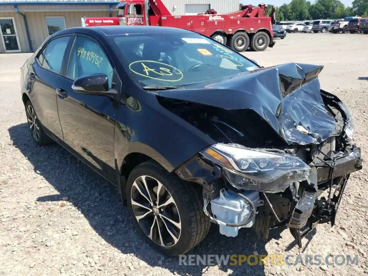
[[[5,52],[20,52],[17,28],[13,17],[0,17],[1,40]]]

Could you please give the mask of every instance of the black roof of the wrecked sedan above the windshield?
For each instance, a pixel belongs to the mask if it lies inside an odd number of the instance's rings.
[[[144,33],[193,33],[186,29],[178,29],[172,27],[161,26],[93,26],[93,27],[75,27],[65,29],[58,33],[103,33],[105,35],[120,35],[120,34],[144,34]]]

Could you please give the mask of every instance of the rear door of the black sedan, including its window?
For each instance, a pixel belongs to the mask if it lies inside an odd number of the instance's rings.
[[[57,113],[56,89],[63,85],[61,74],[65,65],[64,53],[72,35],[57,36],[45,44],[31,64],[29,96],[40,123],[54,136],[63,140]]]

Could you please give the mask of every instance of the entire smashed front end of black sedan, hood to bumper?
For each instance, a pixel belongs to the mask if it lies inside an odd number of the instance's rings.
[[[221,234],[254,227],[266,239],[287,226],[301,247],[316,224],[334,225],[362,159],[346,106],[319,87],[322,68],[260,68],[208,84],[200,97],[198,89],[160,93],[163,106],[217,142],[176,173],[203,186],[204,212]]]

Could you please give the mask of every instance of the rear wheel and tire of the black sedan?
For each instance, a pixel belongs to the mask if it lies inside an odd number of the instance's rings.
[[[31,132],[33,141],[40,146],[52,144],[54,140],[43,131],[42,125],[35,112],[35,108],[30,100],[28,100],[28,102],[25,104],[25,113],[28,121],[28,128]]]

